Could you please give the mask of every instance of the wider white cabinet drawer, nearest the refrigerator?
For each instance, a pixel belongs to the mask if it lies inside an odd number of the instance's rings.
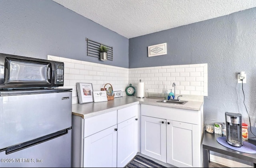
[[[116,122],[116,110],[84,119],[84,138],[106,128],[109,128],[110,126],[116,125]]]

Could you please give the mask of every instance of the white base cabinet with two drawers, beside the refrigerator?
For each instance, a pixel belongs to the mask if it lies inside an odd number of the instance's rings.
[[[138,105],[72,115],[72,167],[124,167],[138,152]]]

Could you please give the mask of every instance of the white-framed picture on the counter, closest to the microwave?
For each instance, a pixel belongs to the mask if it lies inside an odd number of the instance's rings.
[[[92,83],[76,83],[79,104],[93,102]]]

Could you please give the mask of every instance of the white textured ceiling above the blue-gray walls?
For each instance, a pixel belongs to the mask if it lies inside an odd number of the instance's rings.
[[[53,0],[126,38],[256,7],[256,0]]]

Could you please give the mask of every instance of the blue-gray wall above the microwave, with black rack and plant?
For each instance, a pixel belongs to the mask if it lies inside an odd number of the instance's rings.
[[[113,61],[87,56],[86,38],[113,47]],[[47,55],[128,68],[128,38],[52,0],[0,0],[0,53]]]

